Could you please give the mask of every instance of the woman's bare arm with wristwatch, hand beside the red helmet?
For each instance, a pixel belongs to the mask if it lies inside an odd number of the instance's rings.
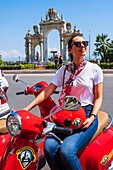
[[[86,119],[83,128],[88,128],[91,125],[91,123],[94,121],[95,116],[98,114],[102,104],[102,94],[103,94],[103,84],[99,83],[94,86],[94,105],[93,105],[93,110],[91,112],[92,116]]]

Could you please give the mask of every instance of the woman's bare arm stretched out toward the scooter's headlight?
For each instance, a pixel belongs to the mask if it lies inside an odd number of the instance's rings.
[[[41,103],[42,101],[46,100],[48,97],[50,97],[54,90],[57,88],[53,83],[50,83],[50,85],[43,90],[28,106],[24,108],[24,110],[31,110],[34,108],[37,104]]]

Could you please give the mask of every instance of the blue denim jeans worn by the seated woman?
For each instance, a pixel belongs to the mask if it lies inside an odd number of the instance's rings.
[[[84,107],[86,117],[90,117],[92,106]],[[68,136],[65,134],[58,134],[63,144],[54,137],[47,137],[45,141],[44,152],[47,162],[51,170],[82,170],[77,152],[85,146],[95,134],[98,127],[98,118],[87,129],[79,129]]]

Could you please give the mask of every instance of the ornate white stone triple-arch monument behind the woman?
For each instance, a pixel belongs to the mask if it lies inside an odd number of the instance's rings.
[[[41,18],[40,33],[38,32],[38,26],[34,25],[34,34],[29,31],[25,37],[25,53],[26,62],[35,62],[35,48],[37,45],[40,46],[40,61],[48,61],[48,34],[52,30],[58,30],[60,36],[60,55],[63,56],[66,61],[66,46],[70,37],[75,33],[79,32],[74,26],[74,30],[71,31],[71,23],[65,23],[63,15],[59,18],[59,14],[55,9],[50,8],[45,15],[45,20]]]

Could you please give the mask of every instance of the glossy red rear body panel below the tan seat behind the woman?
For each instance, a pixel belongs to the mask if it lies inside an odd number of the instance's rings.
[[[113,161],[113,129],[103,131],[80,156],[82,170],[107,170]]]

